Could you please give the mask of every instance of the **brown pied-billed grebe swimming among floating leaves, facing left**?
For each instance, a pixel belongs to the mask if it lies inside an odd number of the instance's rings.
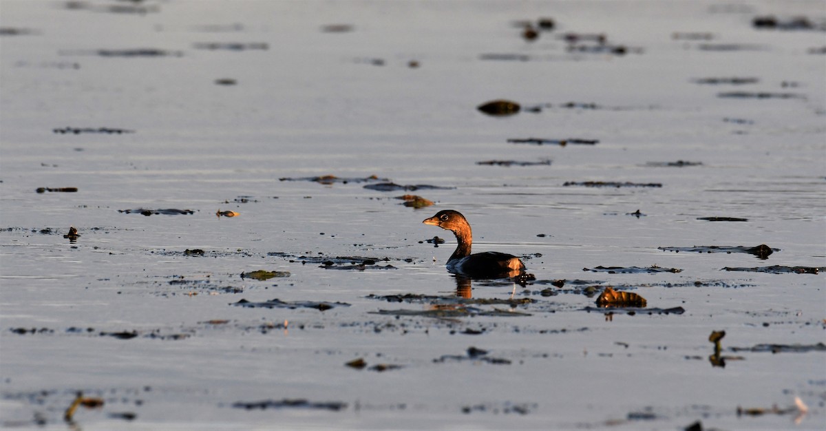
[[[456,235],[456,251],[448,259],[448,270],[470,277],[499,278],[513,277],[525,272],[525,264],[508,253],[485,252],[471,254],[473,243],[470,224],[458,211],[444,210],[422,221],[425,225],[439,226]]]

